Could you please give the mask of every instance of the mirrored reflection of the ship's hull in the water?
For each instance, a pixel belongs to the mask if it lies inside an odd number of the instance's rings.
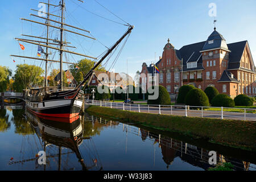
[[[61,169],[61,156],[65,154],[75,153],[79,163],[82,166],[82,170],[92,169],[97,167],[97,159],[93,160],[92,166],[86,166],[85,161],[81,155],[80,146],[84,139],[90,140],[90,137],[83,137],[83,128],[80,116],[73,118],[52,118],[52,117],[42,117],[40,115],[35,115],[30,112],[26,112],[27,121],[36,131],[36,135],[42,140],[43,150],[46,152],[48,146],[56,146],[58,150],[58,169]],[[59,121],[62,120],[62,122]],[[63,122],[63,119],[68,119],[69,121]],[[72,122],[70,122],[72,120]],[[62,153],[63,148],[68,148],[72,152]],[[96,148],[95,148],[96,150]],[[47,155],[51,158],[53,155]],[[46,158],[47,158],[46,157]],[[101,164],[100,164],[101,166]],[[46,165],[44,165],[46,169]],[[102,167],[100,167],[100,170]]]

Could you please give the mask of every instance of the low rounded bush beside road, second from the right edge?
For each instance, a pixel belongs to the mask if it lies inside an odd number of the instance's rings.
[[[234,107],[234,100],[226,94],[218,94],[212,99],[213,107]]]

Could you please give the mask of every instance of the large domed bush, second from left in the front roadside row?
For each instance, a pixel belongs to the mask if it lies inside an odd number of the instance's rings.
[[[210,106],[207,94],[201,89],[192,89],[185,97],[185,104],[189,106]]]

